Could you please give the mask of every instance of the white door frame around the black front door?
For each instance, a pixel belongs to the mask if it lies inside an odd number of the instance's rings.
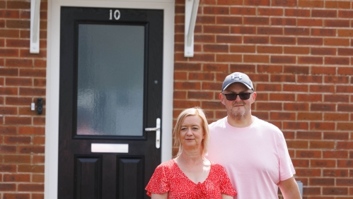
[[[96,8],[161,9],[163,21],[163,100],[161,162],[172,157],[174,18],[175,0],[48,0],[47,10],[47,94],[45,115],[45,199],[57,198],[59,155],[59,50],[60,8],[79,6]]]

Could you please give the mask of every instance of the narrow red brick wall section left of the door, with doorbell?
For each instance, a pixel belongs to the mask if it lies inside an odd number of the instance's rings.
[[[47,1],[41,2],[40,54],[30,54],[30,0],[0,0],[0,198],[44,195]]]

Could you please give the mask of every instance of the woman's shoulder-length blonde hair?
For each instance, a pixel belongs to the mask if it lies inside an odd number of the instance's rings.
[[[180,129],[181,129],[182,123],[184,122],[187,116],[199,116],[202,120],[201,125],[204,130],[204,140],[202,140],[202,157],[203,157],[204,155],[206,155],[207,148],[209,145],[209,125],[207,122],[206,115],[204,114],[204,111],[199,107],[185,109],[178,116],[178,119],[175,123],[174,131],[173,131],[174,146],[179,147],[179,151],[176,157],[178,157],[183,150],[183,146],[180,144],[179,135],[180,135]]]

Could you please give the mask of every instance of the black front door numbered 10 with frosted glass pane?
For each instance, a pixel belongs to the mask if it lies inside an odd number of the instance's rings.
[[[162,59],[163,11],[61,8],[59,199],[149,198]]]

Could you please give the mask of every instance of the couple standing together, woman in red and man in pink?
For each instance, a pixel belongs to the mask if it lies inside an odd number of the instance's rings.
[[[251,115],[256,92],[244,73],[226,76],[219,100],[227,116],[207,124],[204,111],[185,109],[173,131],[179,147],[146,186],[158,198],[301,198],[282,131]],[[214,163],[216,162],[216,163]]]

